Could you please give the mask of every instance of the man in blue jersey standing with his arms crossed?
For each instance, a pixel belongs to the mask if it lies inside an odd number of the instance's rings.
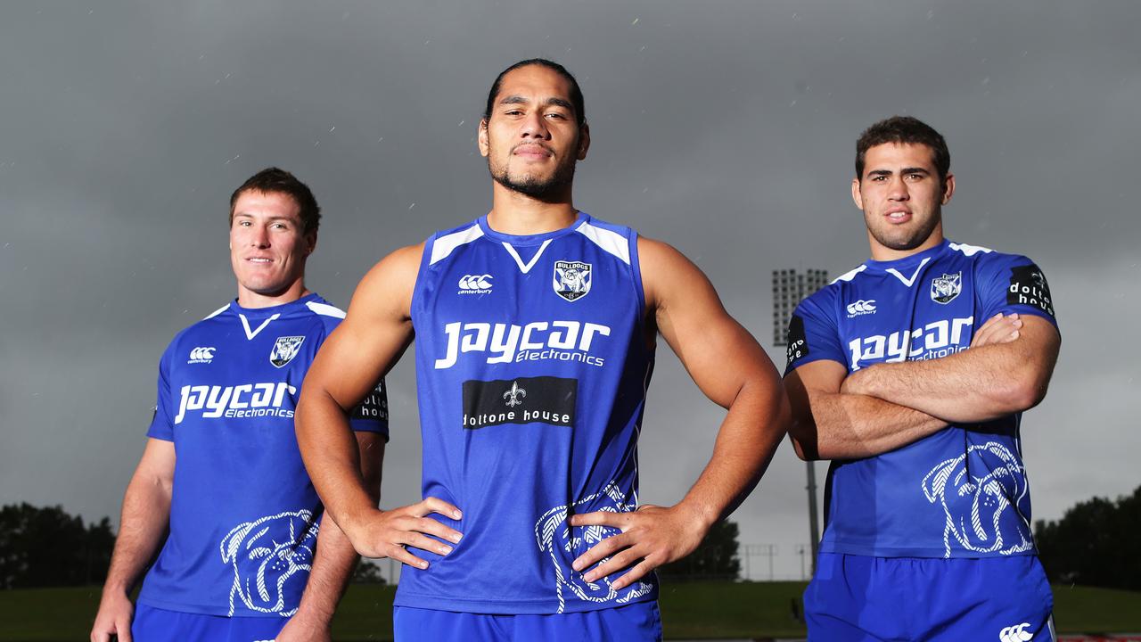
[[[914,118],[868,128],[852,199],[872,258],[790,324],[790,434],[832,459],[810,640],[1053,639],[1020,433],[1058,358],[1053,302],[1029,258],[944,238],[949,168]]]

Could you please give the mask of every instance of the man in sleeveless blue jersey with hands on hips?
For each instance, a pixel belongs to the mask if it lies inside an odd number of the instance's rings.
[[[397,640],[659,639],[652,570],[755,485],[785,432],[779,378],[693,263],[574,207],[590,131],[564,67],[501,73],[478,142],[491,212],[362,280],[306,379],[306,465],[358,552],[405,563]],[[705,471],[669,507],[637,496],[658,334],[729,409]],[[423,500],[378,511],[345,412],[413,337]]]

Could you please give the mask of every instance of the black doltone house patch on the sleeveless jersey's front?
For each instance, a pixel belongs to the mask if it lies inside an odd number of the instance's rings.
[[[500,424],[573,426],[578,379],[519,377],[463,382],[463,427]]]

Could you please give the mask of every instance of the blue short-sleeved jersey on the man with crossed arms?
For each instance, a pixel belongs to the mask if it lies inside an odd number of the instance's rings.
[[[849,372],[968,350],[997,313],[1057,327],[1042,271],[1023,256],[944,241],[868,260],[808,297],[788,328],[788,367],[827,359]],[[875,457],[834,460],[825,553],[881,557],[1033,554],[1030,490],[1017,412],[952,425]]]

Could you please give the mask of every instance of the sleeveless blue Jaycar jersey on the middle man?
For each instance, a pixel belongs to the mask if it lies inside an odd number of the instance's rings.
[[[517,236],[486,217],[424,243],[412,298],[423,497],[463,519],[446,556],[405,567],[396,605],[555,613],[656,597],[583,581],[570,563],[616,529],[572,514],[633,511],[637,441],[654,354],[638,236],[580,212]],[[616,577],[616,576],[615,576]]]

